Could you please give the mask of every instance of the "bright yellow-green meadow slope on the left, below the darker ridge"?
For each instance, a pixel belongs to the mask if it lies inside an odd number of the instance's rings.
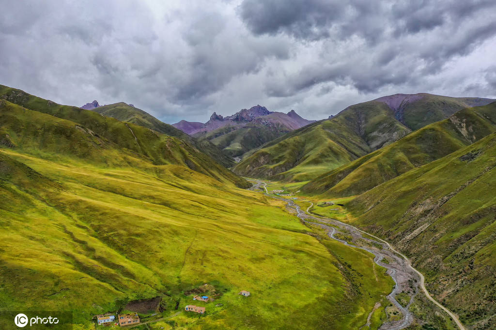
[[[178,299],[184,308],[193,301],[182,291],[202,283],[225,288],[223,308],[210,303],[200,319],[182,312],[168,320],[296,329],[323,320],[360,323],[365,311],[324,317],[344,302],[344,311],[373,305],[349,291],[367,288],[361,281],[372,270],[361,269],[363,278],[342,274],[334,250],[350,250],[357,265],[370,256],[339,244],[329,249],[261,194],[209,187],[212,179],[175,165],[154,176],[5,149],[1,160],[9,168],[2,171],[0,204],[3,309],[69,309],[86,328],[92,315],[116,310],[119,301],[170,295],[171,311]],[[252,295],[241,297],[241,289]]]

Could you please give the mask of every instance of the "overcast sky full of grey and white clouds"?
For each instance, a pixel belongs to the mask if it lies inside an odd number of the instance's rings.
[[[345,4],[345,2],[348,2]],[[496,1],[0,0],[0,84],[165,122],[321,119],[395,93],[496,98]]]

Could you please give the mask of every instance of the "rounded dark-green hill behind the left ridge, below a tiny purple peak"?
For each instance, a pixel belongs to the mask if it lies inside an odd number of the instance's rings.
[[[124,102],[106,105],[93,109],[93,111],[101,113],[108,117],[116,118],[120,121],[130,122],[139,126],[153,129],[154,131],[164,133],[170,136],[179,137],[197,149],[201,150],[204,154],[215,159],[220,164],[230,167],[234,165],[234,161],[227,154],[223,153],[219,148],[210,143],[209,141],[199,141],[187,135],[180,129],[166,124],[141,109],[129,106]]]

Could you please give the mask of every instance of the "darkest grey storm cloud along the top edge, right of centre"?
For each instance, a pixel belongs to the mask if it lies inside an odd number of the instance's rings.
[[[284,33],[312,41],[360,34],[374,40],[382,33],[377,15],[383,6],[361,0],[245,0],[240,15],[256,35]]]

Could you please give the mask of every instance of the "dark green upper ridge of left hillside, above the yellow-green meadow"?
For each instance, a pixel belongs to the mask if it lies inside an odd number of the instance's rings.
[[[2,115],[10,116],[11,120],[5,118],[2,124],[10,125],[12,131],[5,131],[4,133],[10,134],[14,140],[15,134],[27,134],[26,131],[31,129],[31,127],[18,124],[18,121],[14,120],[14,118],[22,113],[25,113],[26,120],[29,120],[29,115],[33,115],[33,118],[37,117],[41,113],[29,112],[29,109],[35,109],[38,112],[50,115],[50,117],[45,116],[43,119],[38,119],[30,123],[33,127],[40,128],[39,131],[30,132],[30,138],[39,136],[43,138],[45,132],[43,129],[44,120],[54,117],[62,118],[74,123],[74,125],[72,123],[66,123],[71,126],[70,128],[66,128],[67,131],[65,133],[65,138],[69,140],[68,142],[71,142],[73,132],[80,130],[84,131],[86,135],[91,136],[91,139],[97,140],[98,142],[95,142],[96,145],[103,144],[106,147],[113,147],[115,145],[120,149],[136,154],[139,158],[151,161],[155,165],[187,165],[193,170],[210,175],[221,181],[230,180],[239,186],[248,186],[248,182],[244,179],[236,176],[184,140],[158,133],[143,126],[121,122],[91,110],[62,106],[27,94],[21,90],[5,86],[0,88],[0,99],[8,100],[1,104]],[[20,107],[15,107],[13,103]],[[50,146],[53,146],[53,148],[61,148],[57,139],[51,137],[49,141]],[[16,143],[14,141],[14,144]],[[75,150],[74,153],[90,153],[92,151],[93,148],[88,146],[84,151]],[[84,154],[81,154],[81,157],[83,156]],[[109,157],[106,158],[105,162],[110,162],[110,165],[112,165],[114,160]]]

